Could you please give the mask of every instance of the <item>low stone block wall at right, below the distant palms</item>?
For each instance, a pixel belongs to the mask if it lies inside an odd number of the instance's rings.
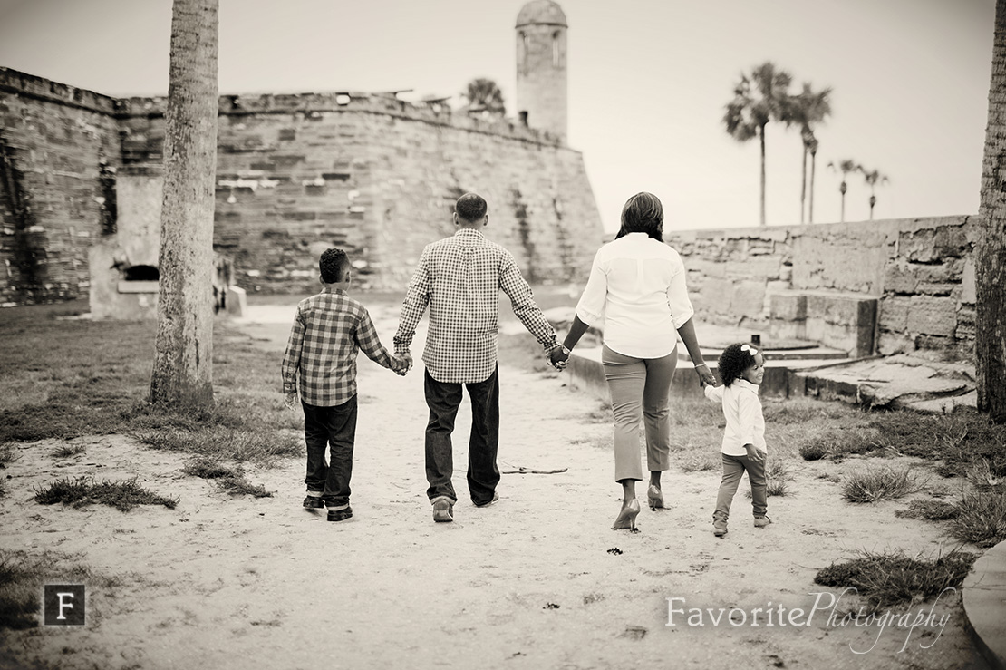
[[[781,297],[803,295],[809,339],[852,355],[959,360],[974,352],[978,220],[941,216],[665,231],[665,239],[684,259],[702,320],[797,337],[799,309]],[[872,337],[864,333],[867,324]]]

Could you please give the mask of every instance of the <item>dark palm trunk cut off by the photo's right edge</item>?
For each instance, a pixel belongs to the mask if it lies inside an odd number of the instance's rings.
[[[1006,423],[1006,0],[996,2],[989,123],[975,244],[975,371],[978,409]]]

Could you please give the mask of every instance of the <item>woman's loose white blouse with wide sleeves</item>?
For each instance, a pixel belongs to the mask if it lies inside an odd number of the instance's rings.
[[[633,358],[663,358],[678,343],[677,329],[695,310],[681,257],[645,232],[602,246],[576,304],[589,326],[604,321],[605,344]]]

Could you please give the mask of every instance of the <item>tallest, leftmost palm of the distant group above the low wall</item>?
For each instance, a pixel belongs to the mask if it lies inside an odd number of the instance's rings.
[[[762,218],[765,219],[765,127],[773,121],[789,119],[789,93],[792,81],[789,72],[777,69],[767,60],[751,69],[750,75],[741,74],[733,88],[733,100],[726,105],[723,124],[726,132],[737,142],[758,137],[762,145]]]

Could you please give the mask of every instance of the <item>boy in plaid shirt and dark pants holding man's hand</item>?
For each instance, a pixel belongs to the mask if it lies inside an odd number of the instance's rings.
[[[297,306],[283,357],[283,392],[287,406],[294,408],[300,376],[308,449],[304,507],[327,506],[329,521],[344,521],[353,515],[349,478],[356,437],[357,353],[362,349],[372,361],[398,374],[405,373],[407,363],[381,346],[366,308],[346,295],[351,280],[346,253],[330,248],[319,265],[325,289]]]

